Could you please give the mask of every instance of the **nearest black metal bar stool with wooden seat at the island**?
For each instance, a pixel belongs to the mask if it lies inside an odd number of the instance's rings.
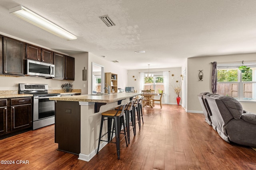
[[[100,149],[100,141],[108,142],[108,143],[116,143],[116,151],[117,151],[117,156],[118,159],[120,159],[120,141],[122,141],[125,138],[126,141],[126,147],[128,147],[127,140],[126,140],[126,131],[124,130],[124,137],[120,140],[120,131],[122,125],[124,126],[125,129],[125,123],[124,123],[124,109],[126,108],[127,104],[123,104],[119,106],[118,110],[108,110],[103,113],[101,113],[101,123],[100,123],[100,136],[99,136],[99,142],[98,142],[98,149],[97,149],[97,154],[99,153]],[[121,109],[122,108],[122,109]],[[107,118],[107,119],[105,119]],[[112,119],[114,120],[113,123],[113,130],[111,131],[112,127]],[[105,120],[108,120],[108,131],[104,134],[102,134],[102,127],[103,127],[103,122]],[[111,133],[115,131],[116,135],[116,142],[112,142],[112,138],[110,138]],[[108,134],[108,141],[102,140],[101,138],[104,137],[106,134]]]

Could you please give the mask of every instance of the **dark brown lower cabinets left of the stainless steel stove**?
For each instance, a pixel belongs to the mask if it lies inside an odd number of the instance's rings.
[[[31,97],[0,100],[0,139],[31,129]]]

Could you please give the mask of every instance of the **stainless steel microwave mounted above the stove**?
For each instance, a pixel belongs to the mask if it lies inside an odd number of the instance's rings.
[[[26,59],[24,74],[30,76],[54,77],[55,66],[54,64]]]

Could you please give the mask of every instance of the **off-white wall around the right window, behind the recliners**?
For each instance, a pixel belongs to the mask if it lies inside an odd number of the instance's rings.
[[[256,53],[252,54],[237,54],[237,55],[221,55],[210,57],[193,57],[188,58],[187,65],[187,111],[188,112],[202,112],[202,107],[198,101],[198,94],[201,92],[212,92],[211,76],[212,64],[211,62],[242,62],[255,61]],[[198,81],[198,70],[203,70],[203,81]],[[256,104],[253,102],[241,102],[246,111],[256,112]]]

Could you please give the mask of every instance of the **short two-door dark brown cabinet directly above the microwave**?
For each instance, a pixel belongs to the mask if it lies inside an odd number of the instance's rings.
[[[27,55],[26,58],[44,63],[53,64],[53,52],[48,49],[43,49],[35,45],[26,44]]]

